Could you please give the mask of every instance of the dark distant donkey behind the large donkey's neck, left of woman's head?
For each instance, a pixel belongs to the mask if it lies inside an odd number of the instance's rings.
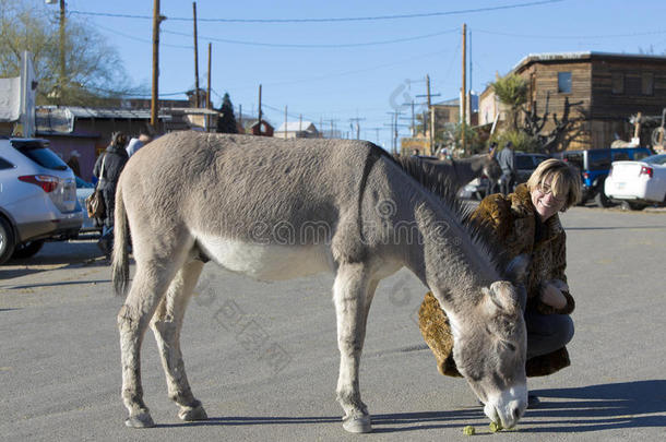
[[[450,181],[450,186],[455,189],[456,193],[469,181],[483,175],[488,177],[491,182],[497,182],[502,175],[502,168],[495,158],[495,151],[461,159],[409,158],[423,162],[428,174],[440,175]]]

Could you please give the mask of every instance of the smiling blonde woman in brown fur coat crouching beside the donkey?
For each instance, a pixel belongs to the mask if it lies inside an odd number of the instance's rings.
[[[551,374],[570,365],[566,345],[573,337],[569,314],[574,301],[564,274],[567,237],[558,212],[574,205],[580,196],[579,172],[561,160],[547,159],[514,193],[488,195],[472,215],[509,259],[519,254],[531,258],[524,279],[528,377]],[[439,371],[460,375],[449,321],[430,292],[419,310],[419,327]],[[534,406],[538,399],[531,396],[530,403]]]

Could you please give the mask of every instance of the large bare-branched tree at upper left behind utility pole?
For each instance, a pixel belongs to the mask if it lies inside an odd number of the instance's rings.
[[[108,38],[88,24],[68,17],[66,79],[59,84],[60,46],[56,9],[37,0],[0,0],[0,76],[17,76],[27,50],[39,86],[38,104],[95,106],[138,88],[129,86],[122,62]]]

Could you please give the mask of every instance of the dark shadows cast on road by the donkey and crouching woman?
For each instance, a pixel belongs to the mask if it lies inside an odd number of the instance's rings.
[[[538,408],[525,413],[523,419],[530,428],[522,427],[521,433],[581,433],[666,427],[666,380],[538,390],[532,393],[538,395],[542,403]],[[462,428],[475,419],[487,423],[480,406],[451,411],[372,415],[372,426],[374,433],[390,433]],[[226,416],[200,422],[164,423],[157,427],[322,423],[342,423],[342,420],[340,416]]]

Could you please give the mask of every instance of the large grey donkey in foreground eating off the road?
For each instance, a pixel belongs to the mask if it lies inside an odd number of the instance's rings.
[[[334,274],[336,394],[349,432],[372,430],[358,374],[374,290],[408,267],[451,320],[456,366],[486,415],[513,427],[527,390],[525,294],[511,280],[526,260],[504,265],[493,258],[454,198],[438,196],[430,184],[427,174],[368,142],[175,132],[139,151],[117,188],[112,254],[120,295],[131,229],[136,272],[118,313],[126,425],[154,425],[140,369],[148,326],[179,417],[207,418],[190,389],[179,335],[202,267],[214,261],[264,280]]]

